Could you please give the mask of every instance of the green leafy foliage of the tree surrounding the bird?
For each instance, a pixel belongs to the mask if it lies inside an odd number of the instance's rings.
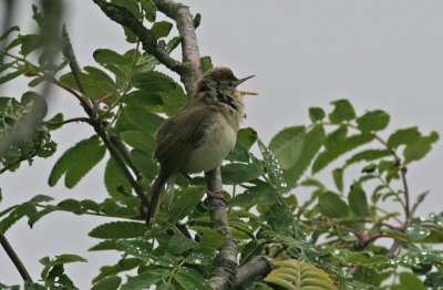
[[[157,39],[167,39],[172,24],[154,22],[153,1],[112,2],[152,22]],[[212,228],[202,176],[178,178],[174,199],[164,203],[153,227],[146,229],[143,222],[143,199],[136,194],[138,187],[143,191],[148,188],[158,170],[151,159],[154,134],[188,95],[171,76],[156,71],[158,61],[141,51],[135,34],[123,29],[134,48],[124,53],[100,49],[93,54],[96,64],[81,71],[73,69],[66,53],[60,62],[48,58],[42,34],[22,34],[17,27],[8,31],[19,34],[0,52],[0,83],[28,77],[30,90],[35,91],[50,82],[76,97],[86,115],[63,120],[60,113],[48,118],[44,99],[34,91],[23,94],[21,101],[1,97],[1,173],[16,170],[23,160],[50,157],[56,148],[51,131],[86,122],[95,134],[79,141],[54,162],[49,185],[64,176],[64,185],[72,188],[96,164],[106,162],[103,180],[109,197],[55,203],[53,197],[35,196],[3,209],[0,230],[6,232],[22,217],[28,217],[32,227],[43,216],[60,210],[102,216],[104,224],[90,231],[90,237],[100,241],[90,250],[119,251],[122,259],[103,266],[92,289],[145,289],[150,284],[210,289],[207,279],[225,236]],[[64,43],[58,49],[65,51],[66,35],[58,40]],[[178,42],[169,38],[167,51]],[[207,66],[210,60],[205,58],[204,63]],[[238,133],[223,177],[231,186],[226,188],[233,188],[225,197],[239,262],[243,266],[261,255],[277,266],[266,278],[256,277],[244,288],[443,287],[443,251],[432,247],[443,242],[443,213],[416,217],[415,209],[427,193],[412,200],[406,179],[409,166],[413,168],[413,163],[430,152],[439,134],[426,135],[418,127],[389,134],[387,112],[359,114],[348,100],[331,104],[329,113],[309,108],[310,124],[282,128],[269,146],[253,128]],[[350,167],[360,174],[351,175]],[[323,180],[324,174],[320,175],[324,170],[329,170],[333,187]],[[308,193],[309,198],[298,200],[300,193]],[[384,208],[388,200],[389,209]],[[381,238],[391,244],[380,244]],[[66,289],[75,286],[63,265],[86,261],[60,255],[40,262],[42,282],[34,288]],[[136,272],[126,278],[125,272],[133,269]]]

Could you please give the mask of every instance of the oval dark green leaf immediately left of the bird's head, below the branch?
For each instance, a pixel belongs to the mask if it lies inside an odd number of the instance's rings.
[[[169,76],[154,71],[133,75],[132,83],[146,92],[173,91],[176,87],[176,83]]]

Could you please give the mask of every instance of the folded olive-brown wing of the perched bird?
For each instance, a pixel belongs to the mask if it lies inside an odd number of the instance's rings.
[[[213,114],[208,105],[194,104],[161,125],[156,134],[154,157],[165,174],[181,170],[192,152],[202,145]]]

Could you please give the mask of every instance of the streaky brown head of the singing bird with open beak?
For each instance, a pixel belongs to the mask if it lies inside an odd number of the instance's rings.
[[[229,68],[214,68],[197,81],[196,91],[197,93],[212,91],[225,96],[251,95],[256,93],[238,91],[237,86],[254,76],[237,79]]]

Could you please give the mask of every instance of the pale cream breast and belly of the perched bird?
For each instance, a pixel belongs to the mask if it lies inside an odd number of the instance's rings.
[[[233,127],[223,115],[215,116],[205,131],[202,145],[190,154],[184,170],[209,172],[219,166],[234,148],[237,131],[238,127]]]

